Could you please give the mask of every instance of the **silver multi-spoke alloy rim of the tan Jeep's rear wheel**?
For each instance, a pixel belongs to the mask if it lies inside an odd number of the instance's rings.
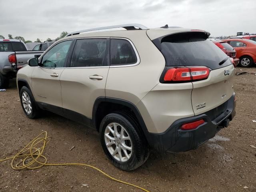
[[[110,123],[105,128],[104,139],[110,154],[120,162],[132,156],[132,141],[126,129],[118,123]]]

